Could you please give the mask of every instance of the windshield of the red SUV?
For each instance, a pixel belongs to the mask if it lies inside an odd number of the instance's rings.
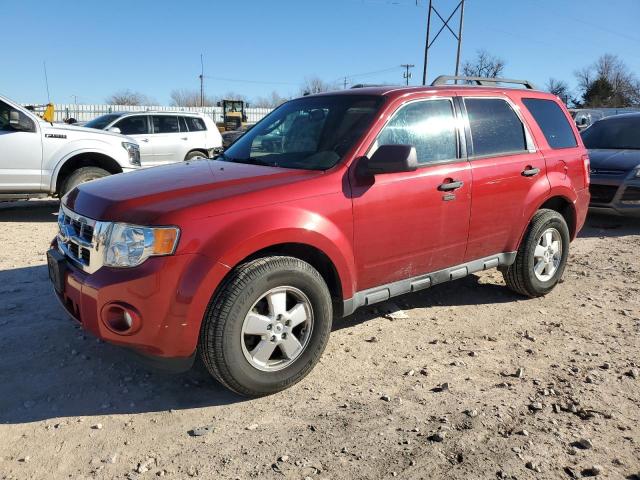
[[[222,159],[326,170],[364,134],[382,101],[376,96],[328,95],[287,102],[245,133]]]

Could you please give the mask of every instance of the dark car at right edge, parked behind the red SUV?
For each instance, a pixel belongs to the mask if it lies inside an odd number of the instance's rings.
[[[592,210],[640,216],[640,113],[599,120],[582,139],[591,158]]]

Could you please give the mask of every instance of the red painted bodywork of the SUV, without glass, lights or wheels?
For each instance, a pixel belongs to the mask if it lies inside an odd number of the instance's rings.
[[[589,194],[580,136],[575,131],[576,148],[551,149],[521,102],[523,97],[555,97],[461,86],[380,87],[338,94],[380,95],[385,102],[368,132],[330,170],[192,161],[108,177],[70,193],[64,202],[81,215],[176,225],[181,235],[174,255],[151,258],[139,267],[103,267],[88,275],[70,266],[62,298],[68,310],[84,328],[109,342],[159,357],[188,357],[225,275],[243,259],[274,245],[303,244],[323,252],[339,276],[342,299],[348,300],[378,285],[517,250],[530,219],[550,198],[571,205],[572,230],[582,227]],[[372,180],[356,174],[357,162],[400,106],[421,98],[464,96],[509,98],[530,131],[535,151],[470,160],[463,156]],[[528,167],[539,168],[540,174],[522,176]],[[463,182],[451,192],[453,198],[438,190],[451,180]],[[133,306],[141,328],[130,335],[109,330],[100,312],[111,302]]]

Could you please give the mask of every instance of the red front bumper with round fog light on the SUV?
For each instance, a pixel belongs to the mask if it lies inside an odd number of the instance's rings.
[[[52,250],[58,251],[55,242]],[[61,292],[54,292],[83,329],[132,349],[147,360],[144,363],[177,371],[188,369],[193,362],[213,293],[202,285],[221,280],[227,271],[197,254],[152,257],[138,267],[102,267],[92,274],[66,261]],[[138,321],[131,331],[116,332],[108,326],[106,307],[114,304],[137,312]]]

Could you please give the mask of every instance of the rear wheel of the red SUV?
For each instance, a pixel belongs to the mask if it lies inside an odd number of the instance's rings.
[[[502,270],[507,286],[527,297],[540,297],[553,290],[567,264],[569,238],[562,215],[546,209],[536,213],[516,261]]]

